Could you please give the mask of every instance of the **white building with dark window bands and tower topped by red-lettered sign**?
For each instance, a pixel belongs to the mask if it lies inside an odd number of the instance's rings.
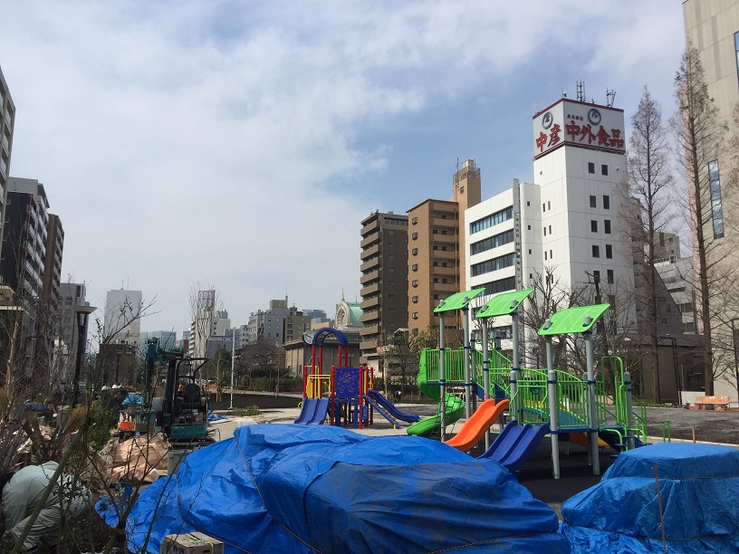
[[[533,184],[465,211],[467,288],[522,289],[549,271],[561,288],[600,282],[604,302],[632,289],[623,110],[562,98],[533,117],[533,147]]]

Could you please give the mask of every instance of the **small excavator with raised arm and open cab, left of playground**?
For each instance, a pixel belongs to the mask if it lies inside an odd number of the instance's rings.
[[[141,421],[155,422],[173,444],[210,443],[208,397],[197,384],[197,372],[209,358],[189,358],[183,349],[165,349],[158,339],[147,341],[147,371]],[[158,362],[167,362],[164,396],[153,396]]]

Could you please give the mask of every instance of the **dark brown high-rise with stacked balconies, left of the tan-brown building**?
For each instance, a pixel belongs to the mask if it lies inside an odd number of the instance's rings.
[[[360,361],[372,364],[382,334],[408,326],[408,216],[375,212],[360,233]]]

